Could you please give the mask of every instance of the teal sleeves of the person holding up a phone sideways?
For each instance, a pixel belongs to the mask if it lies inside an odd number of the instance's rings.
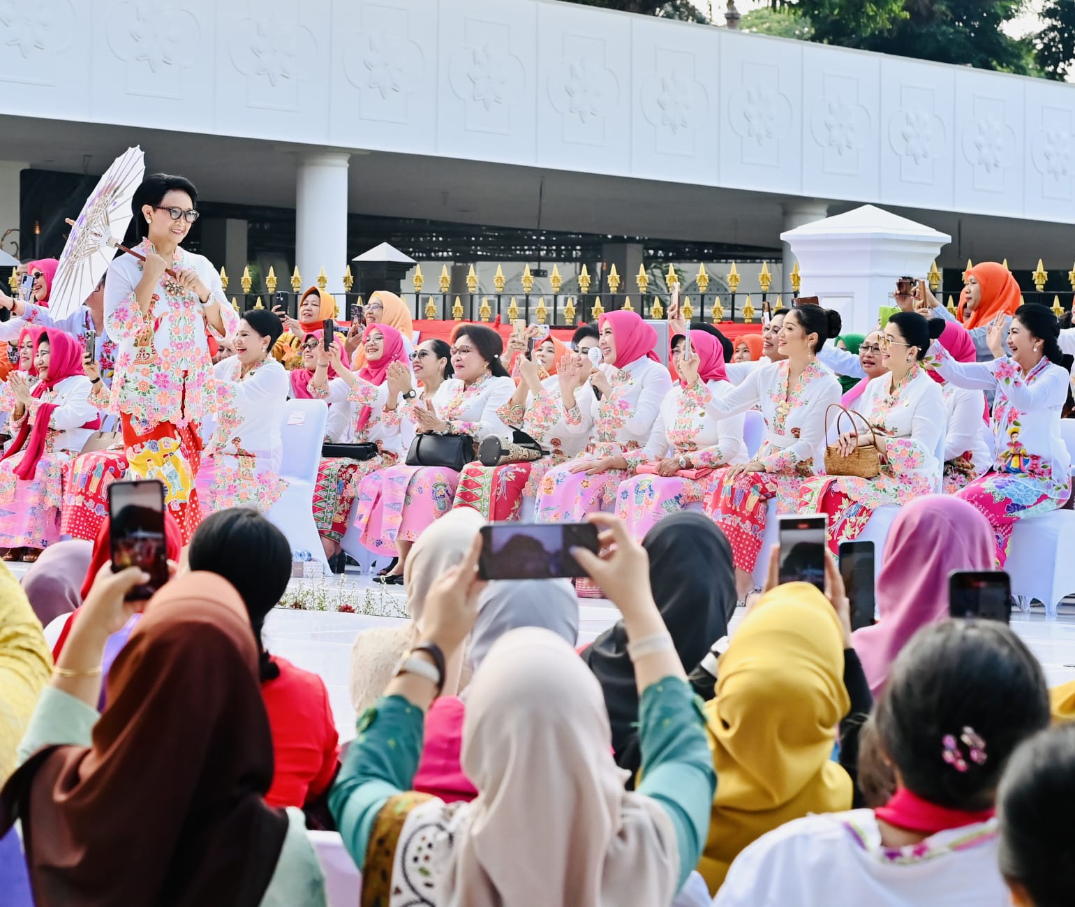
[[[425,714],[402,696],[382,696],[358,721],[329,793],[344,846],[362,868],[377,814],[389,797],[411,789],[421,757]],[[648,686],[639,705],[643,780],[637,793],[657,801],[675,829],[679,886],[702,855],[717,777],[705,739],[700,702],[683,680]]]

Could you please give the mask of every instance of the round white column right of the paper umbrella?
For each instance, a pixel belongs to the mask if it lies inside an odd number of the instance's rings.
[[[295,257],[303,288],[321,269],[328,291],[342,293],[347,268],[347,162],[342,152],[310,154],[299,160],[295,207]]]

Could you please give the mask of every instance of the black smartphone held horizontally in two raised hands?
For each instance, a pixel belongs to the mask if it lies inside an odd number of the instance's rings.
[[[586,576],[572,548],[598,553],[598,528],[589,522],[490,522],[482,527],[482,579],[556,579]]]

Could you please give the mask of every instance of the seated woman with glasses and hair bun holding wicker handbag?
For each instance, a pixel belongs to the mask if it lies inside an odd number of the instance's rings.
[[[929,321],[917,312],[895,313],[880,334],[880,346],[888,374],[866,385],[857,407],[873,434],[861,422],[848,426],[845,419],[835,442],[845,457],[876,444],[880,474],[818,476],[804,481],[799,494],[799,513],[828,514],[833,556],[841,542],[859,536],[878,507],[932,494],[941,484],[936,451],[948,414],[941,388],[921,368],[930,347]]]

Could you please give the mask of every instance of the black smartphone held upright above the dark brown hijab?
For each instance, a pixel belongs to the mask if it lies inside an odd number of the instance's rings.
[[[168,581],[163,484],[157,479],[112,483],[109,486],[109,520],[113,572],[139,566],[149,574],[149,581],[135,586],[127,599],[152,599]]]

